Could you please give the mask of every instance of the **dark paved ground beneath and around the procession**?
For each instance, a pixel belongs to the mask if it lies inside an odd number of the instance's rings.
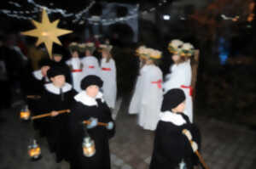
[[[137,115],[128,115],[129,97],[123,98],[116,116],[116,135],[110,140],[112,169],[148,169],[154,132],[137,126]],[[20,107],[0,111],[0,169],[67,169],[66,161],[55,163],[32,124],[20,120]],[[247,127],[196,115],[201,130],[201,155],[210,169],[255,169],[256,132]],[[38,139],[42,158],[31,161],[27,146]]]

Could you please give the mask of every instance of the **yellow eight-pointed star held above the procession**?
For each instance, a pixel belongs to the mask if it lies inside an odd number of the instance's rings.
[[[58,37],[73,32],[69,30],[59,29],[57,27],[59,22],[60,20],[55,20],[54,22],[51,23],[49,21],[49,18],[45,9],[43,9],[42,23],[39,23],[36,20],[32,20],[32,24],[36,26],[36,29],[32,31],[23,31],[21,32],[21,34],[26,36],[38,37],[38,42],[36,43],[36,46],[44,42],[47,48],[49,57],[51,58],[53,42],[61,45],[61,42],[58,39]]]

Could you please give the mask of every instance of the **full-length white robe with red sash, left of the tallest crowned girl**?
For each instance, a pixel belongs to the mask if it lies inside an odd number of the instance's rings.
[[[163,74],[155,65],[144,65],[142,75],[142,101],[138,124],[146,130],[155,130],[160,120],[160,107],[163,99],[161,82]]]

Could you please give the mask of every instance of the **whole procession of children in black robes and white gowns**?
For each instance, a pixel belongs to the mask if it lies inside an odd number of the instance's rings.
[[[47,138],[56,162],[69,161],[71,168],[108,169],[108,139],[115,133],[112,111],[117,97],[116,65],[110,44],[97,48],[93,42],[69,45],[71,59],[66,63],[54,52],[53,59],[42,60],[40,69],[30,77],[32,87],[26,94],[41,99],[28,102],[34,115],[50,113],[34,127]],[[157,65],[162,54],[154,48],[137,48],[140,70],[131,98],[129,114],[138,115],[138,125],[155,131],[154,152],[150,168],[177,168],[182,163],[193,168],[201,144],[200,132],[192,123],[191,67],[194,47],[174,40],[169,43],[174,64],[163,78]],[[93,56],[102,54],[100,62]],[[83,58],[79,53],[84,54]],[[165,81],[166,80],[166,81]],[[165,82],[164,82],[165,81]],[[59,113],[70,110],[70,114]],[[90,121],[87,125],[83,121]],[[100,126],[98,124],[106,124]],[[84,155],[84,137],[90,135],[96,154]]]

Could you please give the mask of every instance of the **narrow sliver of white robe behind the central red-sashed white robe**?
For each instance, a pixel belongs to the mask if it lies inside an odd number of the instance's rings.
[[[138,114],[140,111],[140,105],[142,103],[142,76],[145,72],[145,66],[140,69],[139,75],[137,76],[137,82],[135,85],[134,92],[132,94],[131,103],[129,105],[128,113],[130,115]]]

